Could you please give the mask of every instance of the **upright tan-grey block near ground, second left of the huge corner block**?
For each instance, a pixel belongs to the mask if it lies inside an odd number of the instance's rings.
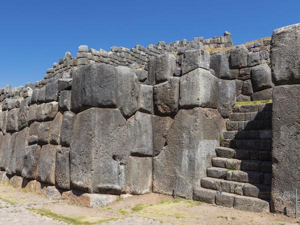
[[[43,145],[40,149],[37,180],[55,184],[55,157],[56,146],[51,144]]]

